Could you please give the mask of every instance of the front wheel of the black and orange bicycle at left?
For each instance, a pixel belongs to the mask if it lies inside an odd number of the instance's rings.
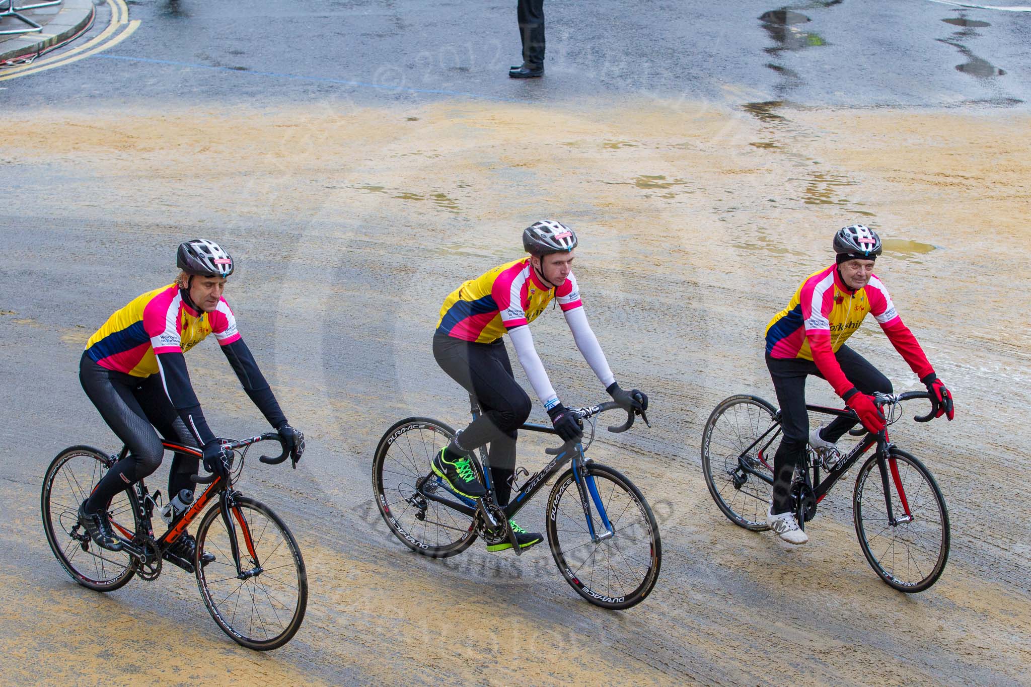
[[[229,531],[217,505],[197,528],[197,560],[204,553],[214,560],[197,565],[197,586],[214,622],[238,644],[268,651],[297,633],[308,604],[308,574],[290,529],[264,504],[235,496],[233,526],[240,565],[239,579]]]

